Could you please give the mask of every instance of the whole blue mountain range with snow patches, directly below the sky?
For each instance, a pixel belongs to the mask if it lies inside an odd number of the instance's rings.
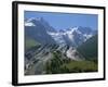
[[[44,45],[57,44],[78,47],[96,33],[90,27],[82,26],[56,30],[43,17],[25,21],[25,36]]]

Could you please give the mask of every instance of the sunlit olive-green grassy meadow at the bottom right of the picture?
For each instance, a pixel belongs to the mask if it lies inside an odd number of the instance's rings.
[[[97,64],[91,61],[71,61],[60,69],[67,69],[68,73],[97,72]]]

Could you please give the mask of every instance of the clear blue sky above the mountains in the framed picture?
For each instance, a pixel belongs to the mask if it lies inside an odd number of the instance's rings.
[[[25,11],[24,17],[43,17],[55,29],[66,29],[75,26],[91,27],[92,29],[98,28],[97,14]]]

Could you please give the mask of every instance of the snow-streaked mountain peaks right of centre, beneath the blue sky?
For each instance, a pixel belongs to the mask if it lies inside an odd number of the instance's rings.
[[[85,29],[85,32],[83,29]],[[60,29],[57,33],[48,32],[48,34],[51,35],[53,39],[55,39],[55,41],[59,45],[65,44],[72,45],[75,47],[86,41],[94,35],[91,28],[81,26],[70,27],[68,29]]]

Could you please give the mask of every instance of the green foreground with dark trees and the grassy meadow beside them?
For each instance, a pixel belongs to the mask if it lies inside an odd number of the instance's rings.
[[[68,58],[63,59],[62,53],[56,51],[53,58],[46,62],[46,74],[62,74],[62,73],[84,73],[97,72],[97,63],[92,61],[72,61]]]

